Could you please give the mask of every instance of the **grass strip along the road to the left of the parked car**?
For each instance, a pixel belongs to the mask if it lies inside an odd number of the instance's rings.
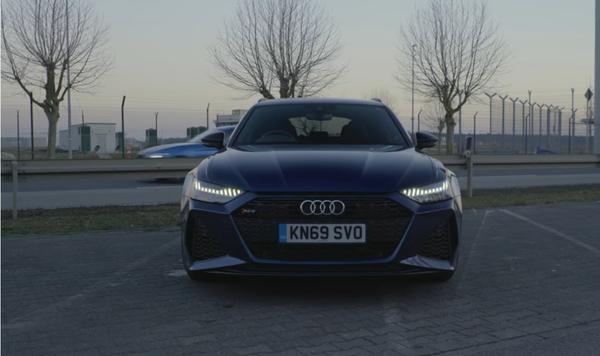
[[[71,234],[107,230],[160,230],[179,221],[175,204],[108,206],[99,208],[35,209],[19,211],[18,220],[2,211],[2,236],[17,234]]]

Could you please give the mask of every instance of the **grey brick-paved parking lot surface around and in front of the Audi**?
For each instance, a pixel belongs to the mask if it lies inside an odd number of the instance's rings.
[[[417,279],[227,279],[176,231],[2,238],[2,354],[593,355],[600,202],[471,210],[462,264]]]

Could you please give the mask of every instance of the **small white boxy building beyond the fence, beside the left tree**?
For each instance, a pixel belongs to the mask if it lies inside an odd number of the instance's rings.
[[[71,149],[82,152],[113,153],[117,147],[115,124],[90,122],[71,125]],[[61,130],[59,147],[69,148],[69,131]]]

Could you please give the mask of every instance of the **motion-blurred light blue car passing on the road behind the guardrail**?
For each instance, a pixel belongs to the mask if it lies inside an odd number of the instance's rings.
[[[235,126],[221,126],[214,129],[209,129],[200,135],[192,138],[187,142],[171,143],[167,145],[153,146],[146,148],[138,153],[140,158],[190,158],[190,157],[207,157],[218,151],[214,147],[207,146],[202,143],[202,139],[206,136],[222,132],[225,135],[225,141],[235,129]]]

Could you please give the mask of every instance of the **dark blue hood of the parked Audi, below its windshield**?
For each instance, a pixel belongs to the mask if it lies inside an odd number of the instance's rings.
[[[443,179],[441,163],[409,148],[227,149],[206,158],[195,175],[210,183],[245,191],[394,192]]]

